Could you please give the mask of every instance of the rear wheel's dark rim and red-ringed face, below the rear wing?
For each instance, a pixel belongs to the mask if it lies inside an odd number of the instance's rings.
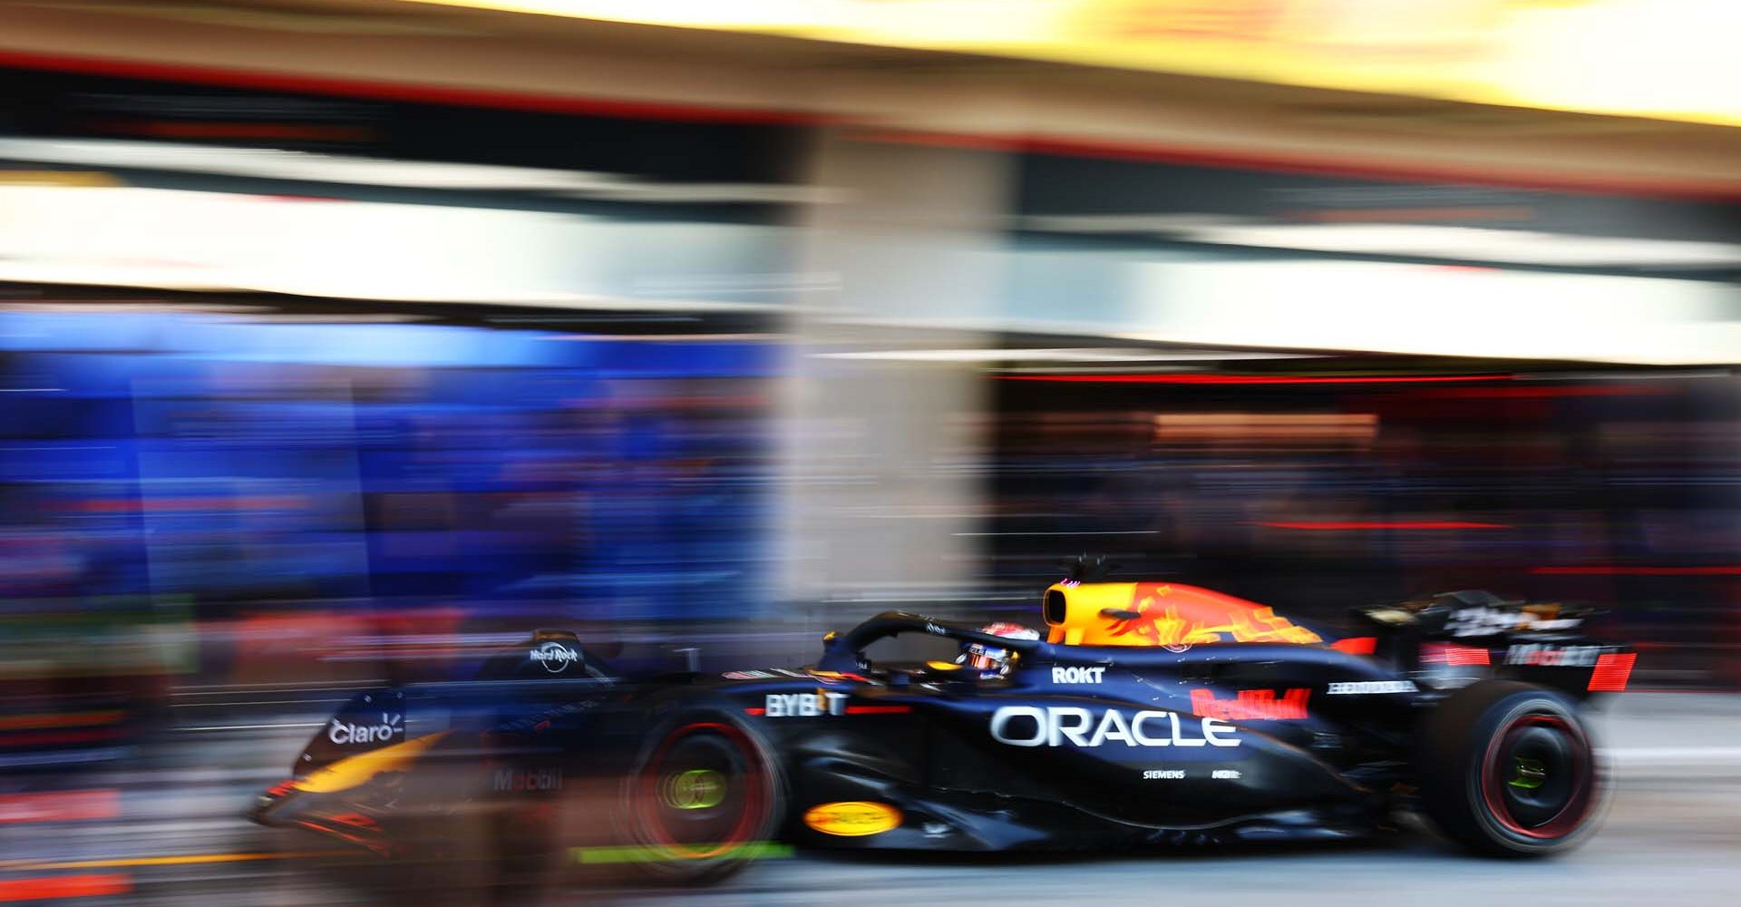
[[[1562,716],[1513,717],[1482,759],[1487,813],[1522,837],[1553,841],[1577,830],[1595,785],[1590,738]]]

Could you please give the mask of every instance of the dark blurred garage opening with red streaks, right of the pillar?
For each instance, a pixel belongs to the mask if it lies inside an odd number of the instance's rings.
[[[1452,588],[1607,609],[1644,682],[1732,686],[1732,378],[1003,381],[991,573],[1060,541],[1337,621]]]

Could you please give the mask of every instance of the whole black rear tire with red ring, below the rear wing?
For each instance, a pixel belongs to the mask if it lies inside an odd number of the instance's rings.
[[[1576,705],[1549,689],[1482,681],[1428,719],[1421,804],[1452,841],[1492,857],[1548,857],[1583,843],[1607,792]]]

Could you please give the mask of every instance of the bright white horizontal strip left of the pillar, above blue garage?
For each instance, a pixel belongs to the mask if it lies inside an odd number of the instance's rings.
[[[611,280],[608,251],[635,254],[663,237],[491,207],[0,186],[0,280],[632,312],[778,308],[712,301],[705,287],[639,298]]]

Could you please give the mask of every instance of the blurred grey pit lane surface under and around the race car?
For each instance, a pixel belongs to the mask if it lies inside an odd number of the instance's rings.
[[[33,822],[0,810],[0,900],[78,895],[66,904],[360,905],[346,858],[312,836],[240,820],[282,778],[320,716],[183,722],[153,768],[78,775],[118,790],[110,820]],[[192,729],[207,728],[207,729]],[[223,728],[223,729],[211,729]],[[1071,904],[1736,904],[1741,890],[1741,698],[1626,696],[1602,717],[1616,796],[1583,850],[1506,863],[1452,851],[1424,834],[1337,848],[1168,850],[1144,857],[770,860],[719,888],[564,891],[548,904],[818,905]],[[14,775],[0,794],[40,789]],[[24,790],[30,792],[30,790]],[[84,803],[84,801],[82,801]],[[103,801],[92,801],[101,804]],[[101,806],[99,806],[101,808]],[[54,869],[49,869],[54,867]],[[362,869],[359,867],[359,872]],[[40,879],[84,879],[44,888]],[[24,883],[10,886],[10,883]],[[104,888],[104,884],[108,888]],[[120,886],[120,888],[117,888]],[[125,895],[104,893],[125,890]]]

